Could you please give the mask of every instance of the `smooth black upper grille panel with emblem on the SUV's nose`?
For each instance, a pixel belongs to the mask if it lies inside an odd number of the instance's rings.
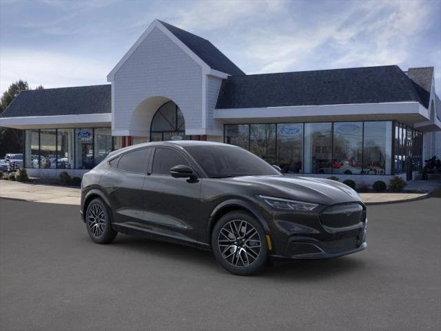
[[[345,228],[366,219],[366,210],[360,203],[331,205],[320,213],[322,225],[329,228]]]

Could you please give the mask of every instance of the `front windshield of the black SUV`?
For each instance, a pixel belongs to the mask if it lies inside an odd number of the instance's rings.
[[[236,146],[187,146],[185,150],[211,178],[280,174],[260,157]]]

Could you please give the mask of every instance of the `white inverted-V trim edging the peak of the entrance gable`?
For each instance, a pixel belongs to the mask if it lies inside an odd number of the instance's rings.
[[[191,57],[196,63],[198,63],[199,66],[201,66],[203,68],[203,72],[209,72],[210,68],[207,65],[207,63],[205,63],[200,57],[198,57],[192,50],[190,50],[185,43],[183,43],[181,40],[179,40],[170,30],[168,30],[167,28],[165,28],[165,26],[163,26],[161,24],[160,21],[158,21],[157,19],[155,19],[150,26],[143,32],[143,34],[141,34],[141,37],[138,38],[138,40],[136,40],[136,42],[133,44],[133,46],[124,54],[123,58],[116,64],[116,66],[112,69],[111,72],[109,72],[109,74],[107,74],[107,81],[113,82],[114,81],[114,75],[116,74],[116,72],[119,70],[119,68],[121,68],[121,66],[123,66],[123,64],[125,63],[125,61],[127,61],[127,59],[129,59],[129,57],[134,53],[134,51],[136,50],[136,48],[139,47],[139,45],[141,45],[141,43],[144,41],[145,38],[147,38],[147,36],[150,34],[150,32],[152,32],[152,30],[154,28],[158,28],[159,30],[161,30],[167,37],[169,37],[170,39],[172,39],[172,41],[174,41],[174,43],[176,43],[177,46],[179,46],[179,48],[181,48],[189,57]]]

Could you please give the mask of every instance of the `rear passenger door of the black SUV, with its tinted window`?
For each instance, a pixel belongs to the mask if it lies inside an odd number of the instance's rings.
[[[151,153],[152,148],[139,148],[122,154],[117,164],[111,166],[101,179],[101,185],[107,187],[107,194],[112,201],[115,223],[142,223],[143,183]]]

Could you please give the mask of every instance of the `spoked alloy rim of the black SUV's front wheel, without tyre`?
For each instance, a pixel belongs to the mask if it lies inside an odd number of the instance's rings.
[[[256,228],[238,219],[220,229],[218,246],[225,261],[235,267],[247,267],[256,261],[262,245]]]

